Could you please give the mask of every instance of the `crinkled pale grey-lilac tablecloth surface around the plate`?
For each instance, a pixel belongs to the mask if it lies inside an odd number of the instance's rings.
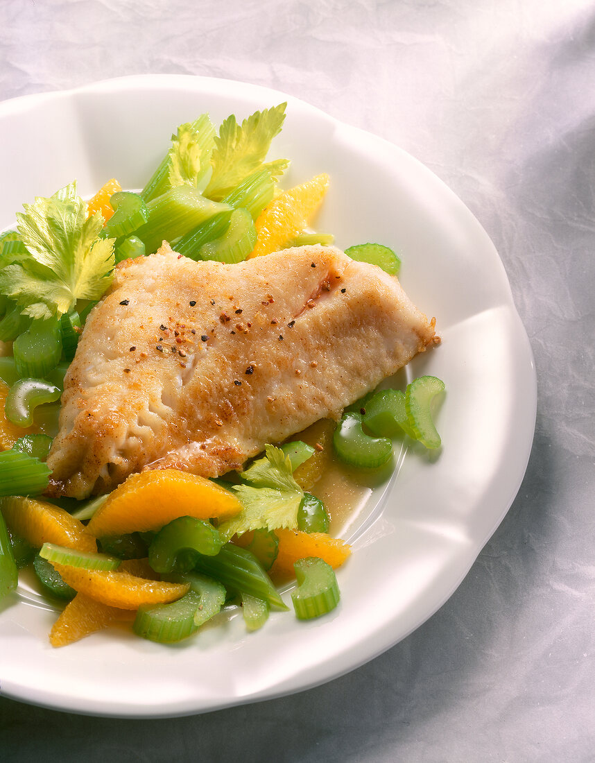
[[[0,2],[2,99],[159,72],[296,95],[402,146],[465,201],[500,252],[535,353],[532,456],[462,586],[368,665],[294,697],[175,720],[0,699],[0,756],[595,760],[595,3]]]

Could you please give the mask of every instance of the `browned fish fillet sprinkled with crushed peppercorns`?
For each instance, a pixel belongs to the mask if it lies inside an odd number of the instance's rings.
[[[66,374],[50,494],[103,493],[146,466],[240,468],[426,349],[397,278],[304,246],[239,265],[164,245],[122,262]]]

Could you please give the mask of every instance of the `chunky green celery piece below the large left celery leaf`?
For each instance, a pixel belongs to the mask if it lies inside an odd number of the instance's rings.
[[[57,317],[34,320],[12,347],[21,377],[43,378],[56,368],[62,356],[60,321]]]

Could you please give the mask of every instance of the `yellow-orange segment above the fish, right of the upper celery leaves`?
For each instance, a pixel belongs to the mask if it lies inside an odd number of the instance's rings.
[[[329,176],[326,172],[315,175],[275,198],[256,221],[256,246],[250,257],[277,252],[297,233],[301,233],[320,207]]]

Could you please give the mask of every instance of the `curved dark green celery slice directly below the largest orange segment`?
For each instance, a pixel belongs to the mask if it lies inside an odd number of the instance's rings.
[[[186,572],[198,554],[214,556],[225,539],[210,522],[178,517],[159,530],[149,546],[149,564],[156,572]]]

